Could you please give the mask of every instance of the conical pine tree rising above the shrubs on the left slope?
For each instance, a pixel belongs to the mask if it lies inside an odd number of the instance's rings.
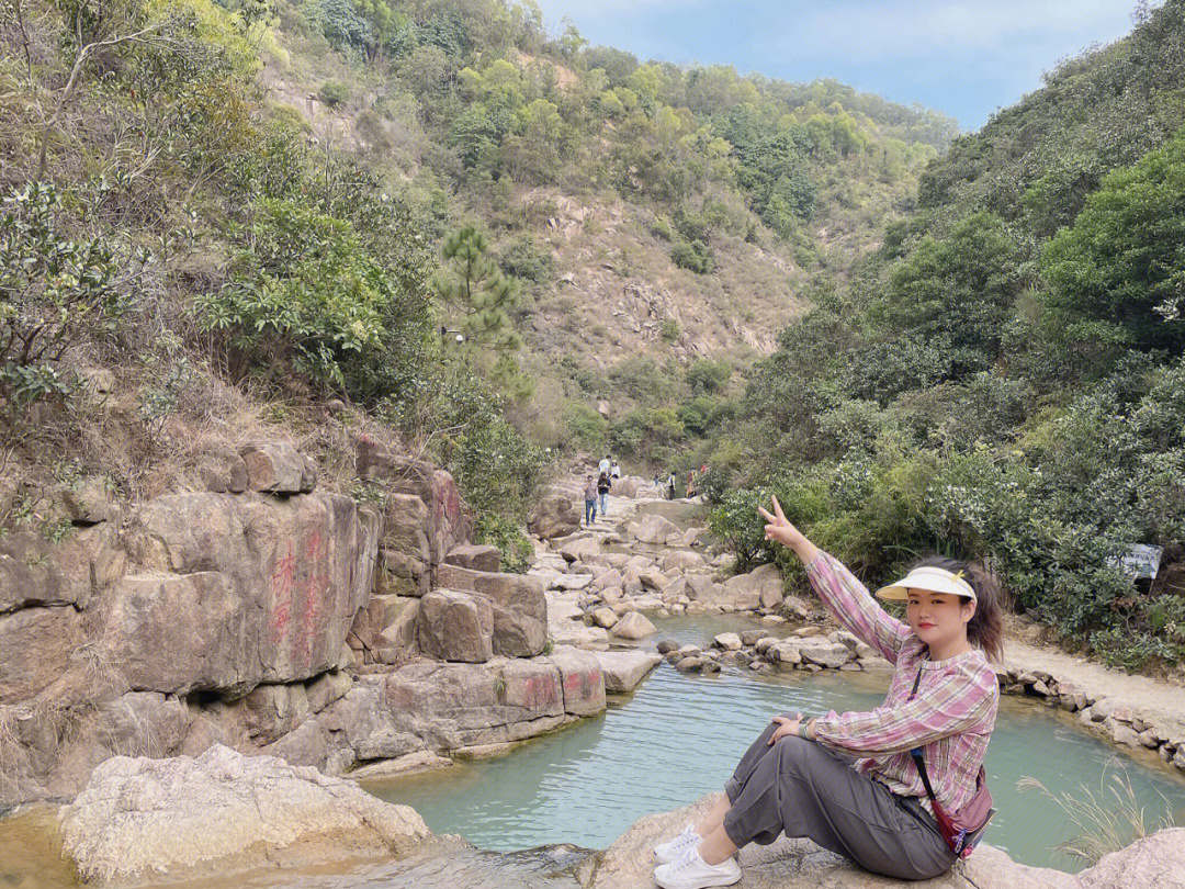
[[[481,348],[519,348],[523,339],[510,316],[519,305],[519,284],[498,268],[489,239],[466,225],[444,239],[442,254],[444,268],[433,277],[433,290],[456,328]]]

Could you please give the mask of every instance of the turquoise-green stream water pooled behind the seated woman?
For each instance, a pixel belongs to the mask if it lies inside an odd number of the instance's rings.
[[[712,633],[760,626],[738,615],[658,623],[655,639],[696,644]],[[602,717],[497,759],[367,789],[412,806],[433,831],[460,833],[483,849],[552,843],[603,849],[642,816],[720,789],[770,716],[871,709],[883,701],[888,680],[888,672],[756,676],[731,667],[688,677],[664,663]],[[1026,776],[1055,795],[1082,798],[1089,788],[1110,808],[1117,805],[1113,788],[1126,799],[1117,784],[1123,779],[1146,808],[1149,827],[1165,813],[1165,800],[1177,824],[1185,824],[1185,780],[1174,769],[1154,755],[1120,753],[1082,730],[1075,717],[1042,704],[1001,699],[986,766],[999,810],[987,842],[1025,864],[1082,866],[1055,851],[1074,830],[1052,800],[1018,789]]]

